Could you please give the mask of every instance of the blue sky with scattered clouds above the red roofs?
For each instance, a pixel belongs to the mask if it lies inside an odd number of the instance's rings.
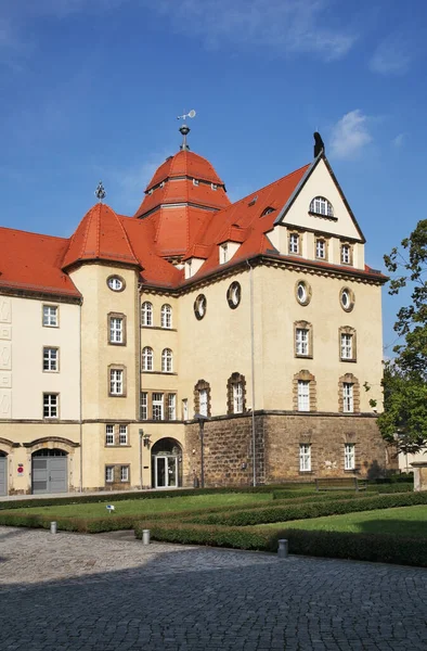
[[[0,224],[68,237],[133,214],[190,143],[236,200],[308,163],[318,129],[366,261],[425,218],[424,0],[1,0]],[[386,354],[402,297],[384,293]]]

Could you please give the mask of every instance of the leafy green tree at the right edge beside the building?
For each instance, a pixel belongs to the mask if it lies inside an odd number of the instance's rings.
[[[401,248],[384,261],[391,273],[389,294],[411,291],[411,304],[401,307],[394,330],[403,343],[386,363],[385,411],[378,419],[383,436],[398,449],[416,452],[427,445],[427,219],[418,221]]]

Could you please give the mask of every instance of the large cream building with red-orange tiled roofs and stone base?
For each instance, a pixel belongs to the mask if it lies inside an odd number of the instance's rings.
[[[133,217],[100,187],[69,240],[0,229],[0,494],[392,463],[370,406],[386,278],[320,136],[311,163],[231,204],[180,130]]]

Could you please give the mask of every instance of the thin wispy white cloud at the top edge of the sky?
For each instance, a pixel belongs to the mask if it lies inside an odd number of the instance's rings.
[[[357,40],[325,17],[331,0],[143,0],[172,28],[208,47],[262,47],[280,53],[344,56]],[[325,26],[326,25],[326,26]]]

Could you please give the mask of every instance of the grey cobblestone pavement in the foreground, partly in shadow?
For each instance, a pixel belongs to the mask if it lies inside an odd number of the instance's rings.
[[[427,571],[0,527],[1,651],[427,650]]]

